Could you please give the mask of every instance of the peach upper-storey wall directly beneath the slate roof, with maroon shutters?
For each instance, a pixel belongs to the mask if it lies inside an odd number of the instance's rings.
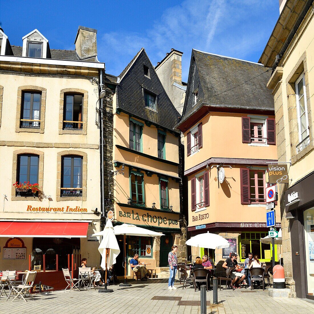
[[[185,170],[188,170],[211,157],[277,159],[276,145],[251,146],[250,144],[242,143],[241,116],[247,115],[211,112],[205,116],[198,122],[203,123],[203,147],[191,156],[187,156],[188,131],[184,133]],[[274,116],[268,117],[274,118]]]

